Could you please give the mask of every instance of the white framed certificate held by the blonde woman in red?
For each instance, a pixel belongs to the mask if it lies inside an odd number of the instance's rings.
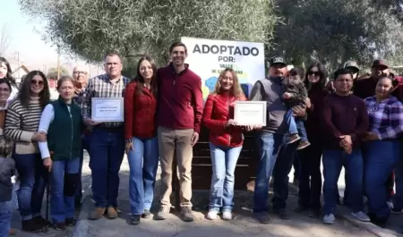
[[[236,101],[234,120],[238,125],[266,126],[266,101]]]

